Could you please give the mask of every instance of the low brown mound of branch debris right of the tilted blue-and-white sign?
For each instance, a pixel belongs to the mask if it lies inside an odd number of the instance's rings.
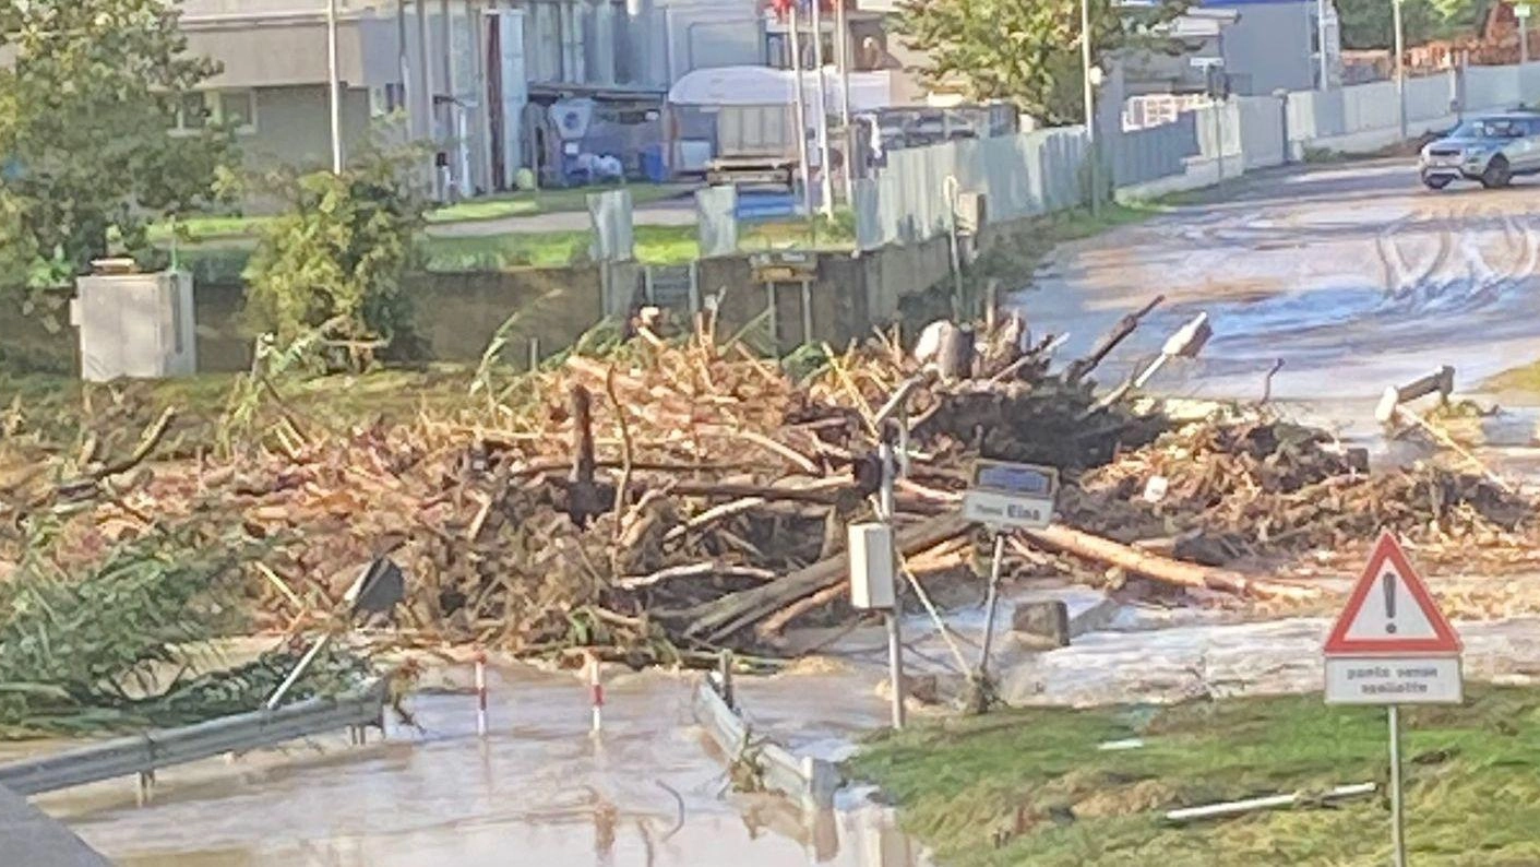
[[[1361,451],[1263,411],[1189,423],[1087,473],[1073,516],[1127,542],[1175,536],[1178,551],[1221,562],[1357,548],[1384,530],[1434,559],[1474,544],[1511,561],[1537,531],[1535,500],[1483,476],[1438,464],[1369,473]]]

